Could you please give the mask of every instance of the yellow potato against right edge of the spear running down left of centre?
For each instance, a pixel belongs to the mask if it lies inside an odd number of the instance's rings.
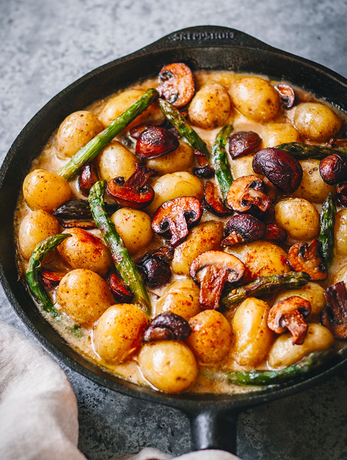
[[[130,255],[141,251],[151,242],[151,218],[144,211],[122,207],[112,214],[111,220]]]

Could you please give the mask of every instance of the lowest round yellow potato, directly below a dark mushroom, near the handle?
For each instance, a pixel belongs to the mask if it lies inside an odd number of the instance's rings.
[[[195,357],[182,342],[160,340],[142,347],[140,369],[158,390],[180,393],[193,385],[197,376]]]

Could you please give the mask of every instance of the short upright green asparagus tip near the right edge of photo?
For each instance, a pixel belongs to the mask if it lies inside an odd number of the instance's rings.
[[[322,243],[323,259],[328,265],[331,265],[334,258],[334,225],[335,225],[336,206],[331,192],[322,204],[319,216],[320,233],[319,241]]]

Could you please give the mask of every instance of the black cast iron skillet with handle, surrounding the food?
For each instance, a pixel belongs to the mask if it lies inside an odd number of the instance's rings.
[[[167,35],[141,50],[93,70],[51,99],[22,130],[0,170],[0,278],[18,316],[57,358],[100,385],[131,397],[177,408],[190,417],[195,449],[224,448],[235,452],[237,413],[244,408],[285,397],[321,382],[346,365],[336,357],[317,374],[285,388],[241,395],[168,395],[120,380],[73,351],[39,314],[17,281],[13,245],[13,213],[31,161],[51,133],[71,112],[128,86],[162,65],[177,61],[191,69],[232,69],[291,81],[347,112],[347,80],[325,67],[277,50],[238,30],[199,26]]]

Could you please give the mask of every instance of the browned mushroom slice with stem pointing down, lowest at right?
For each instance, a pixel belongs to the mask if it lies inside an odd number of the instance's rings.
[[[293,295],[276,302],[269,311],[268,326],[276,334],[288,329],[293,336],[293,345],[301,345],[307,333],[305,318],[311,313],[311,304],[306,299]]]

